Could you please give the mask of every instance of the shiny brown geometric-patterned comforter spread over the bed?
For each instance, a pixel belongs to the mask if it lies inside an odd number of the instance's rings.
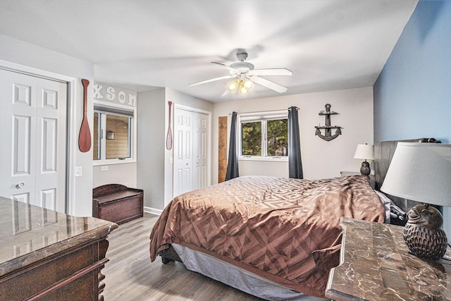
[[[339,264],[342,216],[383,223],[367,177],[235,178],[175,197],[152,229],[150,258],[174,242],[323,297]]]

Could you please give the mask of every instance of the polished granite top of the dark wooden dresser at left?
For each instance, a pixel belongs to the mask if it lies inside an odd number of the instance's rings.
[[[118,228],[0,197],[0,276]]]

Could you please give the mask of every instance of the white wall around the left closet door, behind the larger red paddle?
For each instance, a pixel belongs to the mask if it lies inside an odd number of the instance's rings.
[[[80,80],[85,78],[91,83],[94,82],[93,64],[5,35],[0,35],[0,60],[17,63],[25,68],[36,68],[39,70],[37,73],[42,71],[46,74],[52,73],[74,79],[75,85],[71,87],[70,92],[70,96],[74,97],[73,102],[75,102],[74,111],[70,116],[73,120],[68,127],[68,137],[70,137],[72,145],[70,152],[73,154],[69,168],[70,181],[73,183],[70,188],[70,197],[73,199],[73,207],[70,208],[70,213],[76,216],[92,216],[92,149],[86,153],[80,152],[78,149],[78,133],[83,113],[83,87]],[[2,65],[1,61],[0,65]],[[92,87],[91,85],[89,87]],[[88,89],[87,115],[89,121],[92,121],[91,89]],[[92,127],[92,122],[89,125]],[[81,177],[75,178],[73,173],[75,166],[82,167]]]

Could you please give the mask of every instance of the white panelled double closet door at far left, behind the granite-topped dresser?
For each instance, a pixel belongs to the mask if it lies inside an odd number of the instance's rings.
[[[67,83],[0,70],[0,195],[66,211]]]

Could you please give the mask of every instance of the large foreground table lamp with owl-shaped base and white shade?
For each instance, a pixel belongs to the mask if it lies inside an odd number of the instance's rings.
[[[451,206],[451,145],[398,142],[381,190],[423,204],[407,212],[404,241],[421,259],[438,260],[447,248],[443,216],[430,204]]]

